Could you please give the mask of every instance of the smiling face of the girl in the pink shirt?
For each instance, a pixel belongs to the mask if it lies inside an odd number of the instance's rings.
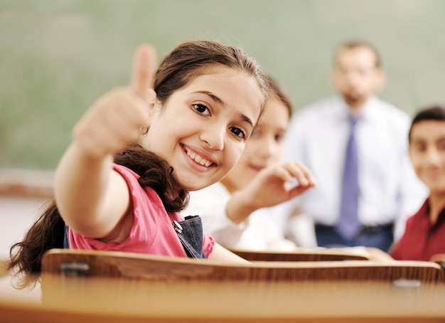
[[[142,144],[173,167],[184,189],[220,181],[240,159],[261,110],[254,78],[226,68],[200,75],[151,111]]]

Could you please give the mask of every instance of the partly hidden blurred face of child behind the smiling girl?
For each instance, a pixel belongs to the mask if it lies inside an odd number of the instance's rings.
[[[269,100],[240,162],[222,181],[230,192],[247,186],[259,171],[280,161],[284,149],[283,136],[288,125],[287,107],[279,100]]]

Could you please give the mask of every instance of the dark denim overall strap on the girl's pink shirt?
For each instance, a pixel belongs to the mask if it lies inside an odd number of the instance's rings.
[[[188,258],[206,258],[203,252],[203,223],[200,216],[186,216],[184,221],[173,221],[172,224]]]

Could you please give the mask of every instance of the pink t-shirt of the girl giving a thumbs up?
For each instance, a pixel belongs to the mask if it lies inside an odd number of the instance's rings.
[[[134,171],[117,164],[114,164],[114,170],[124,177],[129,187],[134,210],[132,231],[122,243],[104,243],[75,233],[69,228],[70,248],[187,257],[171,224],[173,220],[183,221],[180,213],[168,213],[153,189],[139,185],[139,175]],[[203,252],[206,257],[212,253],[214,244],[213,238],[203,233]]]

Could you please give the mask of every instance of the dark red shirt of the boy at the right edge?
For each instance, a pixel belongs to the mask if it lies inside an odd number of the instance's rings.
[[[429,261],[431,256],[445,253],[445,208],[437,221],[429,221],[429,201],[407,220],[402,238],[391,248],[390,255],[396,260]]]

